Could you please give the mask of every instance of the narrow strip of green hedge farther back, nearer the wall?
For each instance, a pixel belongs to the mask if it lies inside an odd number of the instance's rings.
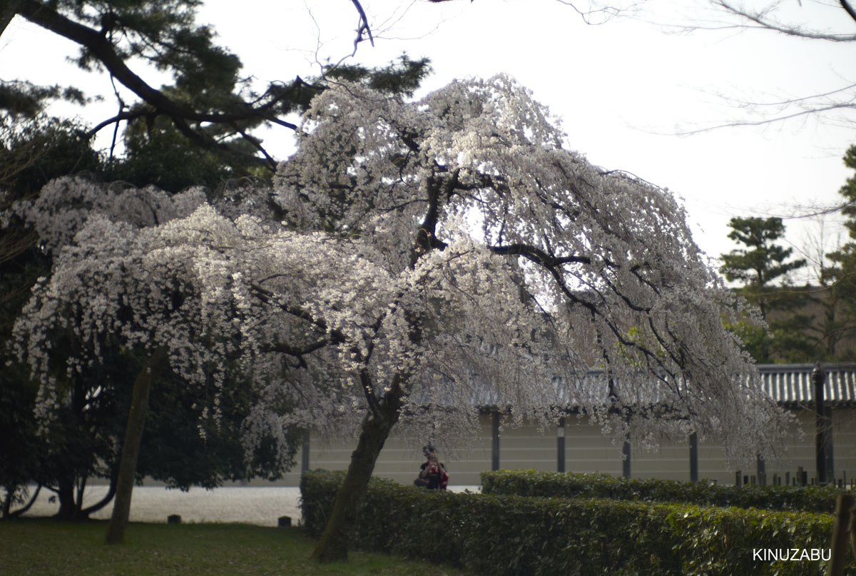
[[[841,489],[832,486],[720,486],[706,482],[629,479],[609,474],[573,474],[534,470],[481,473],[482,494],[612,498],[652,502],[686,502],[701,506],[735,506],[834,513]]]

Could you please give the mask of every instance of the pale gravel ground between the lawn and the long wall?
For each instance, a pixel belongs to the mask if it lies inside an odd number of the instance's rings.
[[[478,491],[478,486],[452,486],[450,490]],[[106,486],[86,488],[85,504],[100,500]],[[51,516],[59,509],[51,502],[51,492],[42,489],[39,500],[25,516]],[[110,519],[112,502],[92,519]],[[297,487],[229,487],[205,490],[192,488],[188,492],[156,486],[136,486],[131,500],[132,522],[166,522],[167,516],[178,514],[182,522],[244,522],[276,526],[280,516],[291,517],[292,525],[300,523],[300,489]]]

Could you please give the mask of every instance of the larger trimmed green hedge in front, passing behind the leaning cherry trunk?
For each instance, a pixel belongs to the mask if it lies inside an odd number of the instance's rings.
[[[301,478],[313,537],[324,530],[342,477],[313,471]],[[831,533],[825,514],[453,494],[372,480],[353,545],[491,575],[819,576],[823,561],[758,560],[753,549],[826,550]]]

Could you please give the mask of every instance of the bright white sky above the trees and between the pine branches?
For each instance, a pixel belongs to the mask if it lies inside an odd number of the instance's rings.
[[[401,51],[430,57],[434,74],[425,89],[455,78],[513,75],[562,117],[569,147],[596,165],[633,172],[679,195],[696,242],[712,257],[734,248],[727,238],[732,216],[790,216],[835,204],[851,173],[841,156],[854,141],[856,123],[831,117],[674,134],[742,117],[745,112],[723,96],[772,102],[852,84],[856,43],[758,30],[666,33],[639,19],[587,26],[556,0],[362,3],[377,34],[375,47],[360,44],[348,62],[380,65]],[[802,8],[797,0],[785,3],[794,4],[788,8],[801,21],[856,33],[856,22],[841,9],[823,13],[808,2]],[[649,0],[639,18],[674,19],[686,6],[683,14],[698,21],[704,17],[700,5],[704,0]],[[241,57],[245,74],[288,81],[317,74],[316,57],[337,61],[353,51],[357,15],[348,0],[208,0],[199,21],[217,29],[220,42]],[[74,83],[100,93],[104,104],[86,113],[95,123],[116,112],[116,100],[106,76],[65,62],[75,51],[72,43],[16,18],[0,38],[0,78]],[[155,73],[143,77],[161,83]],[[109,133],[103,132],[104,146]],[[288,151],[289,136],[280,134],[267,139],[277,157]],[[826,219],[828,244],[841,233],[838,221]],[[820,231],[817,219],[785,224],[795,251],[809,249]]]

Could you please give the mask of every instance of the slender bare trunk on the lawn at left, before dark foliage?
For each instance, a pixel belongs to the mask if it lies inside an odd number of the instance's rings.
[[[137,458],[140,455],[140,441],[146,428],[146,412],[149,409],[149,393],[152,391],[158,371],[166,362],[166,349],[159,348],[152,354],[149,362],[134,380],[134,392],[131,408],[128,411],[128,429],[122,443],[122,458],[119,461],[119,477],[116,481],[116,500],[113,502],[113,514],[107,527],[108,544],[122,543],[128,515],[131,512],[131,495],[134,491],[134,476],[137,471]]]

